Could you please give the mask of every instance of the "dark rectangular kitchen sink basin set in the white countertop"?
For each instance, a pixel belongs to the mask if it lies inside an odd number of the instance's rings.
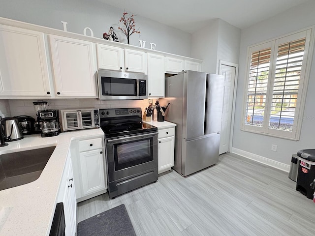
[[[0,155],[0,190],[39,178],[56,146]]]

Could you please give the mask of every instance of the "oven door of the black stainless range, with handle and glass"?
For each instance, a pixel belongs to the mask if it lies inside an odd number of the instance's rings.
[[[158,167],[158,132],[105,141],[109,182]]]

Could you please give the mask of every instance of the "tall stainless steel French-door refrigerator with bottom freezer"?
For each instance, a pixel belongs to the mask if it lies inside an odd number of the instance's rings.
[[[176,123],[173,169],[188,176],[219,161],[223,106],[221,75],[183,71],[166,78],[165,120]]]

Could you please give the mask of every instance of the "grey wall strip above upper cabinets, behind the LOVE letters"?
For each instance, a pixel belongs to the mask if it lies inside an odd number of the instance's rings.
[[[98,38],[113,26],[120,42],[127,43],[126,36],[118,29],[123,12],[124,9],[97,0],[0,0],[0,17],[62,30],[61,21],[64,21],[68,23],[67,31],[83,34],[84,28],[89,27]],[[190,57],[190,33],[140,15],[135,16],[135,21],[141,33],[130,36],[131,45],[140,47],[141,39],[147,42],[146,48],[150,48],[152,42],[156,43],[157,51]]]

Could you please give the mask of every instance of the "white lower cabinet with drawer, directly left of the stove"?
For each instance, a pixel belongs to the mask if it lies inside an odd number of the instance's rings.
[[[74,141],[72,163],[77,201],[81,202],[106,193],[107,176],[104,154],[104,136]]]

